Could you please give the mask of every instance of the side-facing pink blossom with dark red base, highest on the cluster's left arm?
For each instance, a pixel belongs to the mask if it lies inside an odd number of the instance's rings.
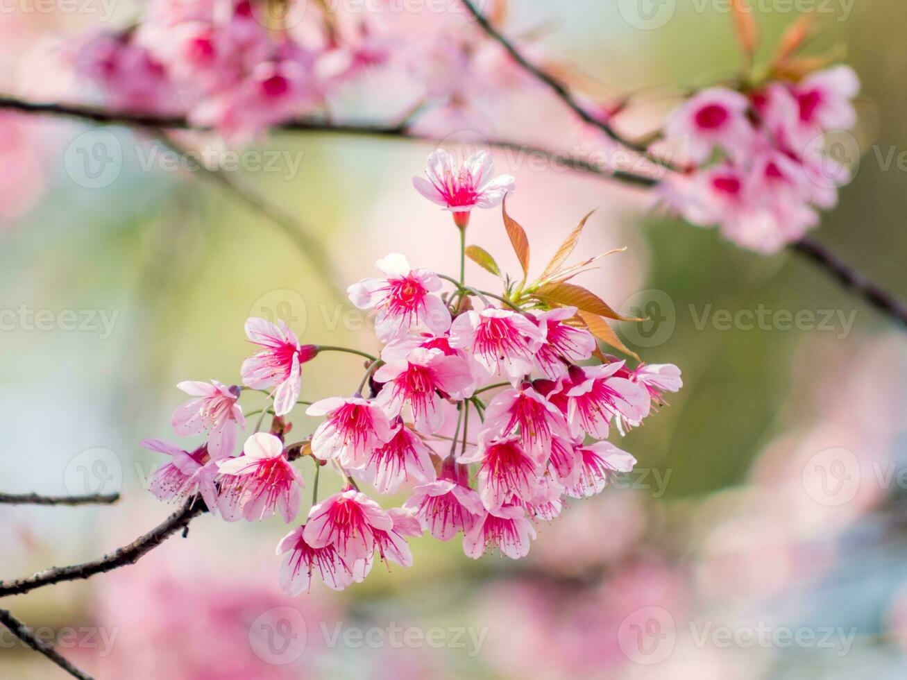
[[[253,390],[275,387],[274,413],[286,415],[302,390],[300,366],[315,358],[317,347],[300,346],[296,334],[283,321],[276,325],[254,316],[246,321],[246,335],[265,349],[242,363],[242,384]]]

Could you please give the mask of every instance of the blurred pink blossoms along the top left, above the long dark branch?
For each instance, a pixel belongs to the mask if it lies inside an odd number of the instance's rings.
[[[342,117],[347,85],[365,73],[394,78],[391,105],[424,110],[426,125],[472,117],[474,126],[483,118],[475,95],[506,97],[528,79],[464,17],[459,0],[406,11],[151,0],[134,26],[80,39],[73,63],[117,108],[186,114],[237,141],[308,115]]]

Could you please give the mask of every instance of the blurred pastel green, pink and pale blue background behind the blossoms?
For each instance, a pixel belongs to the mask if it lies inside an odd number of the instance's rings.
[[[724,4],[640,1],[513,0],[512,24],[544,27],[548,57],[603,93],[646,91],[627,122],[645,130],[678,92],[733,73],[739,57]],[[858,170],[816,238],[907,298],[907,57],[894,47],[907,9],[802,5],[820,19],[811,50],[837,51],[863,80],[859,153],[847,159]],[[89,100],[48,54],[102,17],[34,6],[0,15],[0,89]],[[766,50],[797,6],[761,4]],[[640,21],[640,7],[655,14]],[[112,8],[112,25],[135,9]],[[394,92],[369,77],[366,112]],[[500,112],[515,134],[567,134],[556,102],[532,121],[517,115],[524,105]],[[122,151],[122,168],[96,188],[73,161],[91,148],[77,141],[86,133],[113,135]],[[54,316],[46,330],[16,320],[0,332],[0,488],[123,495],[102,508],[0,506],[0,578],[93,559],[171,511],[145,491],[160,459],[138,442],[170,436],[180,380],[239,381],[247,316],[282,316],[305,342],[377,347],[284,234],[200,172],[149,169],[152,148],[122,128],[0,114],[0,308]],[[455,269],[455,230],[410,182],[431,145],[282,133],[254,148],[280,154],[276,170],[232,176],[316,234],[345,284],[391,251]],[[495,161],[516,176],[510,209],[539,267],[593,208],[581,247],[628,246],[585,282],[651,316],[620,334],[685,380],[623,442],[636,471],[541,526],[520,562],[415,539],[413,568],[289,598],[277,585],[279,520],[203,517],[136,566],[0,604],[101,678],[903,677],[904,329],[796,255],[740,250],[637,189],[503,151]],[[496,211],[476,214],[469,237],[515,267]],[[85,327],[63,327],[65,310]],[[306,369],[306,399],[349,392],[361,374],[343,356]],[[293,422],[314,426],[301,413]],[[63,677],[0,640],[0,676]]]

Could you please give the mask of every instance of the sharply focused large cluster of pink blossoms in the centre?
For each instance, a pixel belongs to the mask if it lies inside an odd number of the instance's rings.
[[[464,214],[501,204],[513,189],[510,177],[491,179],[484,154],[457,167],[446,151],[436,151],[427,175],[430,181],[416,180],[416,187],[463,229]],[[506,219],[508,229],[522,230]],[[630,368],[601,354],[590,312],[551,302],[558,290],[585,291],[565,282],[578,267],[563,267],[578,237],[574,231],[543,280],[516,284],[505,277],[501,296],[468,287],[462,277],[411,267],[399,254],[378,260],[381,276],[359,281],[348,294],[374,313],[380,356],[300,345],[286,324],[250,318],[246,335],[258,352],[242,364],[242,386],[179,385],[191,399],[173,413],[173,430],[207,433],[206,442],[191,451],[142,442],[172,458],[155,473],[151,491],[162,500],[199,494],[224,520],[279,513],[290,523],[305,485],[294,461],[311,458],[317,471],[332,468],[343,491],[320,502],[313,497],[306,522],[278,545],[281,584],[294,594],[309,587],[313,574],[345,588],[365,578],[375,559],[408,567],[407,539],[424,531],[439,540],[462,532],[471,558],[489,548],[522,558],[535,523],[556,518],[565,499],[597,494],[613,475],[633,468],[633,456],[606,441],[611,429],[638,425],[663,403],[663,393],[681,386],[674,365]],[[332,351],[368,358],[359,387],[350,396],[300,402],[303,364]],[[590,363],[593,356],[598,361]],[[246,427],[239,398],[254,391],[268,395],[258,427],[267,415],[271,425],[269,432],[256,428],[236,455],[237,434]],[[300,403],[322,421],[311,436],[288,444],[287,419]],[[405,490],[409,498],[385,509],[360,485],[379,494]]]

